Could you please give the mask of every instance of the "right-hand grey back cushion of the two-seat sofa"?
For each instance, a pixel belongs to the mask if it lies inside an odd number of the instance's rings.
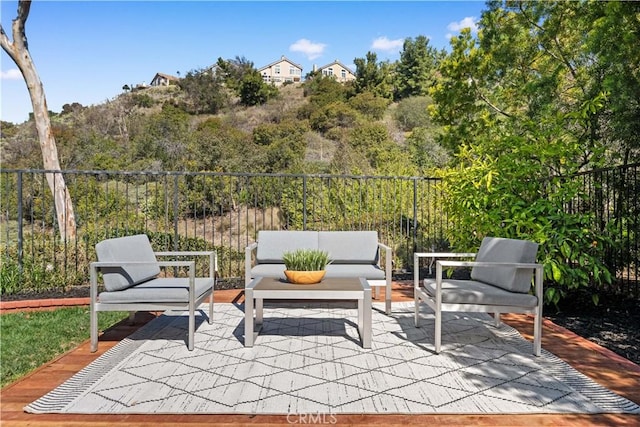
[[[378,261],[378,232],[321,231],[318,248],[329,252],[332,264],[374,264]]]

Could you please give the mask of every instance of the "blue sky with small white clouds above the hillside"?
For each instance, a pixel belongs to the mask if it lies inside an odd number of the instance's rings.
[[[9,38],[17,1],[0,1]],[[50,1],[35,0],[27,20],[29,50],[49,110],[94,105],[125,84],[149,83],[157,72],[185,75],[218,57],[244,56],[256,68],[284,55],[303,67],[375,52],[399,58],[403,41],[424,35],[435,48],[473,26],[482,1]],[[1,52],[0,119],[27,120],[29,95],[16,65]]]

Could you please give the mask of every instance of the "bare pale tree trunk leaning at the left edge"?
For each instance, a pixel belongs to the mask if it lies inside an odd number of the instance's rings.
[[[0,45],[2,45],[2,49],[7,52],[13,62],[16,63],[27,84],[44,168],[46,170],[59,171],[60,160],[58,158],[56,140],[51,129],[47,99],[42,81],[29,53],[27,34],[25,32],[25,24],[29,17],[30,9],[31,1],[19,1],[18,16],[13,20],[12,24],[13,43],[9,40],[2,25],[0,25]],[[63,241],[74,240],[76,238],[76,219],[64,176],[62,173],[47,173],[45,175],[56,206],[60,238]]]

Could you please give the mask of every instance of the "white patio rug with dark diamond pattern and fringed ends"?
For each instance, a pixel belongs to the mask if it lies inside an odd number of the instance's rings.
[[[433,314],[413,326],[413,303],[391,316],[374,303],[372,348],[363,349],[355,304],[265,304],[253,348],[242,305],[199,316],[164,314],[58,388],[25,407],[82,414],[505,414],[640,413],[490,316],[446,313],[433,353]]]

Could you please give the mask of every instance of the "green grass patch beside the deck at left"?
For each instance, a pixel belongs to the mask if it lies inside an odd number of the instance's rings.
[[[100,330],[127,318],[126,312],[103,312]],[[89,308],[7,313],[0,316],[1,387],[89,339]]]

